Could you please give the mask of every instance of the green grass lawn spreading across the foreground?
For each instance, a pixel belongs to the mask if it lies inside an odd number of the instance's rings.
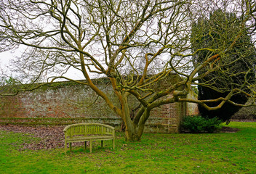
[[[105,141],[92,154],[74,147],[20,150],[38,141],[28,135],[0,130],[0,173],[256,173],[256,123],[231,123],[237,133],[152,134],[126,142],[117,133],[116,149]],[[108,143],[107,143],[108,142]]]

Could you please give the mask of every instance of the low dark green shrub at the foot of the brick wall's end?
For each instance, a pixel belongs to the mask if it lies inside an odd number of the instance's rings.
[[[187,116],[183,118],[181,128],[191,133],[214,133],[220,130],[220,123],[222,121],[217,117],[209,119],[201,116]]]

